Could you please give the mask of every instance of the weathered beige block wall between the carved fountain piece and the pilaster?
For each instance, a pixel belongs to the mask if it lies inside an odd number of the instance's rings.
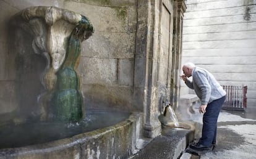
[[[83,43],[79,65],[85,107],[142,111],[132,104],[136,1],[66,1],[64,6],[87,16],[95,27]]]

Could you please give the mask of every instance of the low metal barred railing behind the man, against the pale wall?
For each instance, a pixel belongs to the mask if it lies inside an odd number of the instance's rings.
[[[247,107],[247,86],[223,86],[226,100],[223,109],[244,110]]]

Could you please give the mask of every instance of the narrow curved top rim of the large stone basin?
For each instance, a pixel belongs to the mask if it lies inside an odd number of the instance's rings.
[[[121,121],[120,123],[114,124],[113,126],[96,129],[94,131],[83,132],[81,134],[77,134],[65,139],[45,142],[43,144],[28,145],[24,147],[0,149],[0,158],[17,157],[20,155],[29,155],[35,153],[48,153],[54,152],[56,150],[68,149],[70,147],[74,147],[77,144],[84,144],[86,141],[90,141],[91,139],[97,139],[100,136],[104,136],[104,134],[107,134],[108,132],[127,126],[132,122],[136,122],[136,120],[142,115],[143,113],[141,112],[132,112],[127,120]]]

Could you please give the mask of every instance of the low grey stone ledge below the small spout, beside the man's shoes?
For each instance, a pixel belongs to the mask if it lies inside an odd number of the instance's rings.
[[[187,145],[194,140],[194,133],[194,129],[163,128],[160,136],[155,137],[130,158],[179,158]]]

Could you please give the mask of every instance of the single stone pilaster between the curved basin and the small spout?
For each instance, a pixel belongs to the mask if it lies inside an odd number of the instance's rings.
[[[138,1],[138,25],[135,50],[134,100],[143,105],[145,137],[156,137],[161,132],[158,120],[157,43],[159,2]],[[138,101],[139,100],[139,101]]]

